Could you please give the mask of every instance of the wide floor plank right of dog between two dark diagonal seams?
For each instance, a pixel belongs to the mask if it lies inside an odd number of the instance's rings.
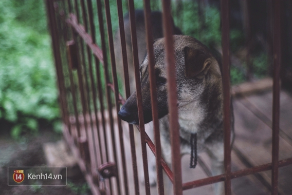
[[[235,147],[252,165],[269,163],[272,160],[272,130],[271,128],[248,110],[239,100],[234,101],[236,141]],[[280,159],[292,156],[292,146],[280,138]],[[260,173],[271,184],[271,171]],[[292,175],[281,172],[279,181],[292,180]],[[287,194],[290,186],[279,185],[279,192]],[[291,192],[291,191],[290,191]]]

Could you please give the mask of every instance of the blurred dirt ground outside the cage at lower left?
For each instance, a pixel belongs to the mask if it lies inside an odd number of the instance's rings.
[[[37,136],[24,136],[20,140],[0,132],[0,195],[91,195],[83,176],[68,178],[67,186],[7,185],[8,166],[47,166],[42,144],[60,139],[62,135],[52,129],[39,130]]]

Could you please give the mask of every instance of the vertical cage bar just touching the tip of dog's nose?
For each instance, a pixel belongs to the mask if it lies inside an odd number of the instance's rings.
[[[109,39],[109,46],[110,46],[111,74],[112,74],[113,87],[114,87],[116,112],[118,114],[118,112],[120,111],[120,102],[119,102],[120,98],[119,98],[119,87],[118,87],[118,79],[117,79],[117,73],[116,73],[114,48],[113,48],[109,0],[105,0],[105,9],[106,9],[106,19],[107,19],[107,27],[108,27],[108,39]],[[123,167],[124,187],[125,187],[125,193],[126,195],[128,195],[128,177],[127,177],[127,167],[126,167],[125,148],[124,148],[124,139],[123,139],[123,129],[122,129],[121,118],[118,117],[117,119],[118,119],[120,150],[121,150],[121,156],[122,156],[121,160],[122,160],[122,167]]]

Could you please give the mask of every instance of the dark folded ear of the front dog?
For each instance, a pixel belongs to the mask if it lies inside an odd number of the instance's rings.
[[[207,71],[211,64],[210,55],[192,47],[184,47],[184,75],[194,78],[202,71]]]

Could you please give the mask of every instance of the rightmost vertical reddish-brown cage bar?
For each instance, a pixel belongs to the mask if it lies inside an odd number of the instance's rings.
[[[274,74],[273,74],[273,132],[272,132],[272,195],[278,194],[280,66],[281,66],[281,3],[274,0]]]

